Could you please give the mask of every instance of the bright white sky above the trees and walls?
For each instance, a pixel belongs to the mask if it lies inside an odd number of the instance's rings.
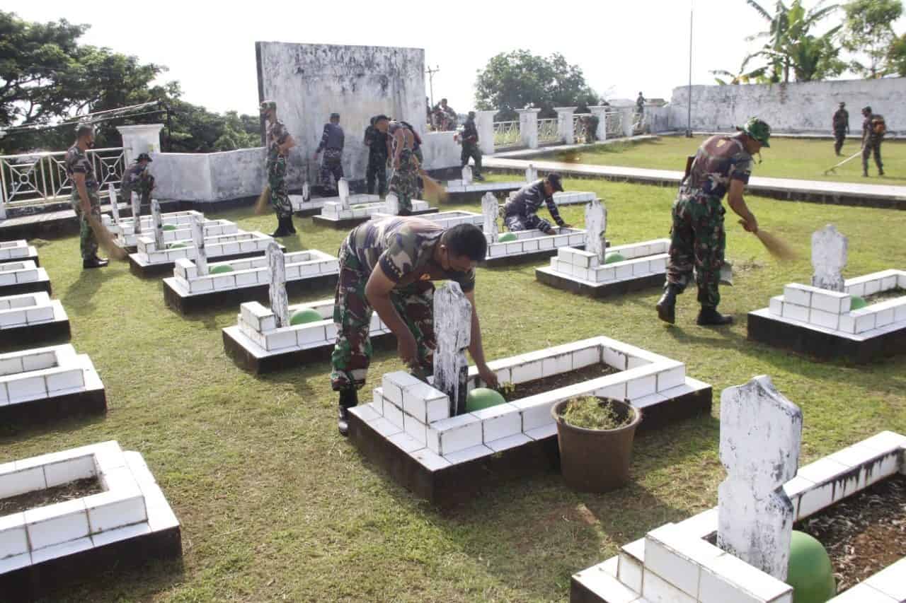
[[[747,43],[746,36],[766,25],[745,0],[649,0],[642,5],[599,0],[591,5],[595,7],[528,0],[0,0],[0,8],[29,21],[65,18],[91,24],[82,43],[166,65],[169,71],[159,79],[179,81],[185,101],[240,113],[257,108],[258,41],[424,48],[426,67],[439,68],[433,77],[434,101],[445,96],[454,109],[465,112],[473,107],[477,70],[496,53],[518,48],[562,53],[607,98],[635,99],[643,91],[646,98],[669,101],[675,87],[689,82],[690,10],[694,84],[714,83],[711,70],[736,72],[757,46]],[[429,94],[427,79],[425,92]]]

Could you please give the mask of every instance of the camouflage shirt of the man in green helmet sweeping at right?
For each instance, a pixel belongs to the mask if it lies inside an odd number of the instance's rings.
[[[724,198],[730,180],[748,184],[752,175],[752,156],[738,136],[718,134],[705,140],[695,154],[689,178],[680,187],[680,192],[689,195],[703,195]]]

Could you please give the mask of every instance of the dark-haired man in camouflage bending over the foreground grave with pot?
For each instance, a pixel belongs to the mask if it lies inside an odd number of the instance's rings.
[[[390,217],[352,230],[340,246],[333,322],[337,341],[331,356],[331,386],[340,392],[338,428],[348,432],[347,410],[356,406],[371,363],[371,312],[377,311],[397,339],[400,359],[423,377],[433,373],[434,280],[459,283],[472,303],[468,351],[488,387],[496,375],[487,367],[475,304],[475,268],[485,259],[487,240],[476,225],[444,229],[419,217]]]

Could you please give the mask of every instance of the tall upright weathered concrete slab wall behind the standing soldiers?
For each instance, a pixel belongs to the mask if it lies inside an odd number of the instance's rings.
[[[279,119],[298,143],[288,161],[290,187],[301,186],[304,160],[313,156],[334,111],[346,134],[343,171],[350,179],[365,177],[368,151],[361,139],[372,116],[407,120],[425,138],[424,50],[258,42],[255,53],[260,100],[276,101]]]

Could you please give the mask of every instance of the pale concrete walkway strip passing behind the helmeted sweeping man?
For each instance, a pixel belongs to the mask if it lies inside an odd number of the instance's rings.
[[[556,171],[565,175],[602,177],[608,180],[641,182],[670,187],[678,186],[679,180],[682,178],[682,172],[666,169],[593,166],[545,159],[499,158],[496,156],[484,159],[486,168],[523,171],[529,164],[543,172]],[[777,198],[906,209],[906,187],[893,185],[752,177],[749,180],[748,190],[752,194]]]

